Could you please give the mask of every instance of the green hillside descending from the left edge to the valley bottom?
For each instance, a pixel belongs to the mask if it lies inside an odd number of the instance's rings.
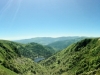
[[[21,55],[21,44],[0,40],[0,75],[44,75],[45,68]]]

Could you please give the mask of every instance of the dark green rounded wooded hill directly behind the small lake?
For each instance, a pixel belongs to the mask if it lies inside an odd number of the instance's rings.
[[[48,58],[55,53],[54,49],[48,46],[42,46],[37,43],[29,43],[24,44],[23,46],[19,46],[21,55],[31,58],[34,60],[35,57],[42,56],[44,58]]]

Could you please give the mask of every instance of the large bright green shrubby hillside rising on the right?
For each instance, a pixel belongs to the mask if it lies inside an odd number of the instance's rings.
[[[51,75],[100,75],[100,39],[84,39],[41,62]]]

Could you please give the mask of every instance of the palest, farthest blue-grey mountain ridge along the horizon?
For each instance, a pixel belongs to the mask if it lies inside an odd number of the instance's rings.
[[[37,37],[37,38],[31,38],[31,39],[22,39],[22,40],[14,40],[15,42],[18,43],[31,43],[31,42],[35,42],[38,44],[42,44],[42,45],[48,45],[50,43],[53,42],[57,42],[57,41],[64,41],[64,40],[71,40],[71,39],[80,39],[80,38],[86,38],[86,37],[78,37],[78,36],[72,36],[72,37],[58,37],[58,38],[52,38],[52,37]]]

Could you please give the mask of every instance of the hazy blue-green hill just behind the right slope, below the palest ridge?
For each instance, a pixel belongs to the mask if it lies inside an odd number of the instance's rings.
[[[85,39],[84,37],[77,37],[77,38],[69,38],[67,40],[63,40],[63,41],[56,41],[53,43],[48,44],[48,46],[52,47],[55,49],[56,52],[65,49],[66,47],[68,47],[69,45],[76,43],[78,41],[81,41]]]

